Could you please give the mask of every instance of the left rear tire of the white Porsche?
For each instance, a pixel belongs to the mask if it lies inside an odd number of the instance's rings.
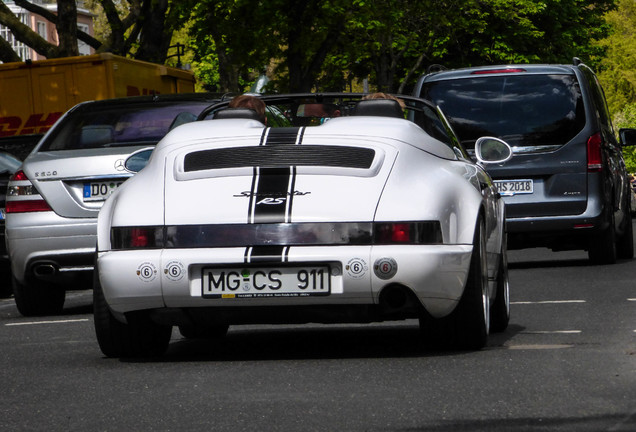
[[[107,357],[154,357],[168,349],[171,326],[155,324],[147,316],[135,315],[122,323],[106,303],[97,267],[93,276],[93,315],[99,347]]]

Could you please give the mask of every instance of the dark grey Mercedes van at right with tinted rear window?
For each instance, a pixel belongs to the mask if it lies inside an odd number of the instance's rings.
[[[511,160],[488,166],[511,249],[582,249],[604,264],[634,256],[629,178],[589,67],[443,70],[421,77],[415,94],[442,109],[468,149],[483,135],[513,146]]]

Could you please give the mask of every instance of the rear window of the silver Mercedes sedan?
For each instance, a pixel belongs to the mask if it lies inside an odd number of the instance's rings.
[[[193,121],[210,102],[84,106],[60,120],[39,151],[154,145],[173,127]]]

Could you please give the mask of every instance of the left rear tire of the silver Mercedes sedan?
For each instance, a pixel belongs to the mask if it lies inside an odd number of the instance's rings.
[[[62,312],[66,297],[63,288],[41,283],[23,285],[15,277],[12,280],[15,305],[23,316],[57,315]]]

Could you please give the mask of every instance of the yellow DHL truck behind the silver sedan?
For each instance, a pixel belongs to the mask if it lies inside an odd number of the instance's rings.
[[[11,147],[34,144],[79,102],[188,93],[194,83],[189,71],[110,53],[0,64],[0,148],[24,153]]]

